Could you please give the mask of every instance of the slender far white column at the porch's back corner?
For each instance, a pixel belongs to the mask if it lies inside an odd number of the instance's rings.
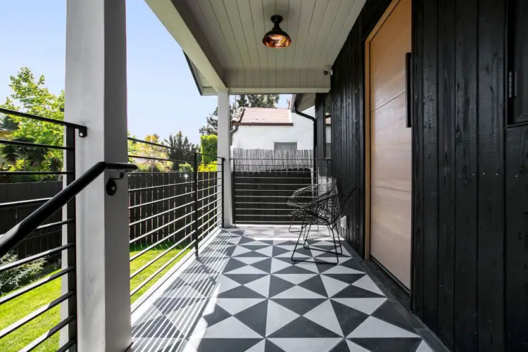
[[[218,92],[218,156],[224,162],[224,226],[233,224],[232,187],[231,187],[231,150],[230,150],[230,96],[227,92]]]

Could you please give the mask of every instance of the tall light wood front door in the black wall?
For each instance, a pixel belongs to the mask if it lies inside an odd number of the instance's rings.
[[[370,39],[370,255],[410,287],[411,130],[406,53],[411,0],[394,1]]]

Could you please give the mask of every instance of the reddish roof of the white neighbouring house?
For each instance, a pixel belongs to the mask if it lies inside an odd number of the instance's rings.
[[[287,108],[237,108],[231,119],[234,125],[293,126]]]

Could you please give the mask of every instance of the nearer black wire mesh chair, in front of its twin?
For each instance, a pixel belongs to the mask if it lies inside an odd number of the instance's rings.
[[[291,253],[291,260],[296,262],[304,262],[308,260],[298,260],[295,259],[295,252],[297,250],[297,246],[299,242],[301,241],[301,236],[303,237],[303,248],[304,249],[313,249],[316,251],[323,251],[327,253],[332,253],[336,255],[336,263],[339,263],[339,254],[343,254],[343,248],[341,246],[341,241],[339,241],[339,238],[336,240],[336,234],[337,232],[337,220],[339,220],[339,216],[343,212],[346,203],[348,203],[348,200],[351,199],[352,194],[358,189],[358,187],[352,189],[351,191],[345,191],[337,194],[330,194],[328,196],[322,197],[318,199],[317,201],[314,201],[307,206],[304,206],[303,208],[298,208],[294,211],[295,216],[303,221],[303,225],[301,225],[301,232],[298,235],[297,243],[295,244],[295,249],[293,253]],[[310,234],[310,229],[312,225],[323,225],[328,227],[328,230],[330,234],[332,235],[332,241],[334,242],[334,249],[335,251],[329,251],[327,249],[320,249],[316,247],[310,247],[309,245],[306,246],[306,242],[308,241],[308,237]],[[304,232],[304,233],[303,233]],[[337,251],[337,246],[339,243],[339,252]],[[309,260],[310,263],[322,263],[322,264],[329,264],[327,261],[321,261],[321,260]],[[332,263],[330,263],[332,264]]]

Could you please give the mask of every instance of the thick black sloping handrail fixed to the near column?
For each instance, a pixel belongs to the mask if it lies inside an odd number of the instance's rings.
[[[77,196],[84,188],[92,183],[103,171],[114,170],[114,171],[133,171],[137,169],[137,165],[129,163],[106,163],[100,161],[96,163],[92,168],[84,172],[82,176],[77,178],[63,189],[58,192],[56,196],[51,198],[46,203],[42,204],[37,210],[27,216],[24,220],[19,222],[15,227],[0,236],[0,258],[4,256],[8,251],[11,251],[13,247],[20,243],[25,237],[27,237],[32,231],[36,230],[42,222],[46,221],[51,215],[56,213],[59,209],[68,203],[73,197]]]

